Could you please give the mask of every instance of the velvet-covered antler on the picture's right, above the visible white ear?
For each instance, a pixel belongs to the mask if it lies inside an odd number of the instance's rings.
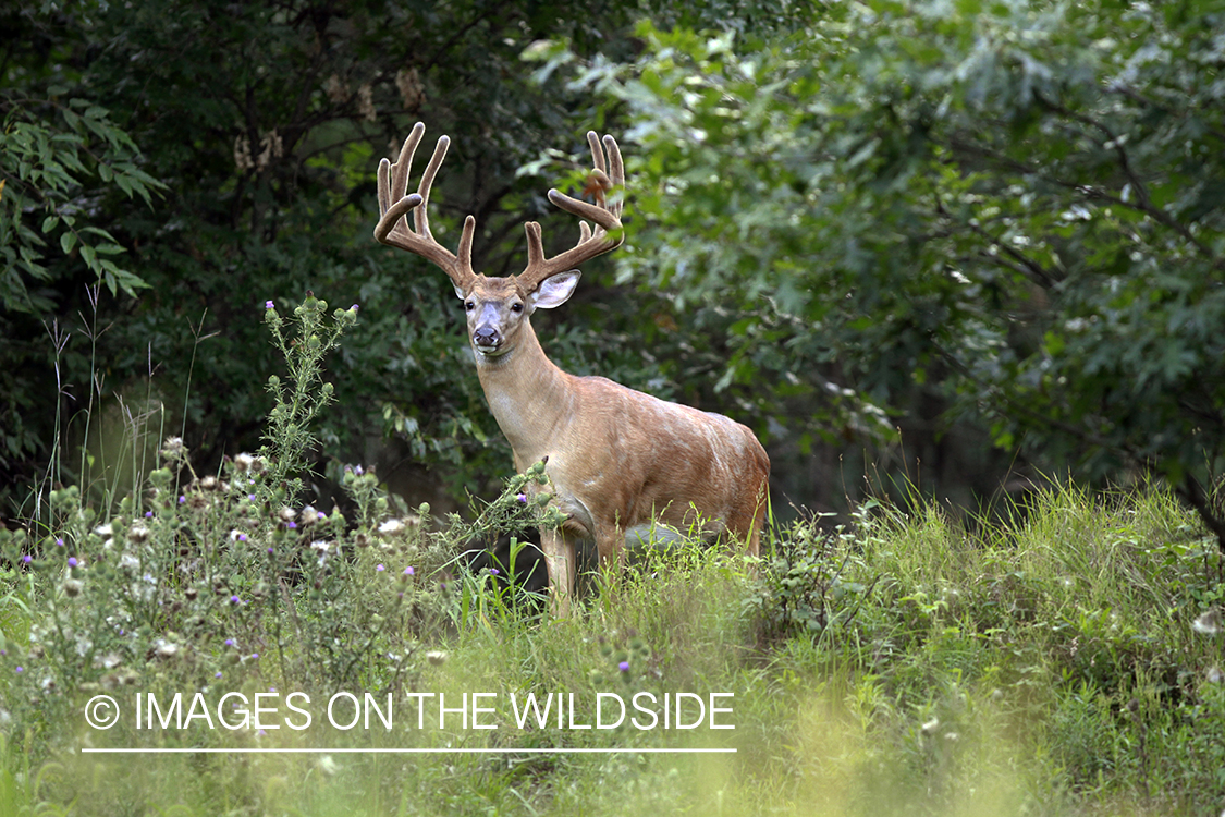
[[[624,240],[621,232],[622,202],[617,201],[611,206],[606,202],[609,191],[625,186],[621,149],[615,138],[605,136],[604,148],[608,151],[608,160],[605,162],[604,151],[600,149],[600,140],[595,131],[587,132],[587,143],[592,148],[592,180],[595,187],[595,203],[579,201],[557,190],[549,191],[549,201],[567,213],[594,222],[597,227],[592,230],[587,222],[579,222],[578,244],[560,255],[545,258],[540,225],[535,222],[524,224],[528,236],[528,266],[517,278],[529,289],[559,272],[572,269],[584,261],[621,246]],[[609,171],[612,174],[611,178]]]

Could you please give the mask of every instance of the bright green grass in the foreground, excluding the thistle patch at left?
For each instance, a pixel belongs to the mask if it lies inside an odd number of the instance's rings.
[[[1225,664],[1221,637],[1192,626],[1218,604],[1219,563],[1166,494],[1051,489],[1022,522],[976,537],[932,510],[877,506],[839,534],[793,527],[777,540],[775,559],[756,571],[696,546],[652,556],[598,578],[564,621],[511,611],[510,595],[488,583],[481,611],[461,619],[452,588],[431,597],[443,611],[414,642],[419,657],[428,648],[445,657],[419,661],[397,691],[392,732],[282,729],[202,741],[735,755],[154,756],[134,774],[131,758],[78,751],[119,736],[88,734],[77,714],[85,696],[61,690],[43,692],[37,710],[6,695],[0,811],[1181,815],[1225,804],[1225,693],[1210,680]],[[790,570],[801,562],[806,573]],[[370,598],[386,589],[374,571],[347,581]],[[464,582],[475,585],[452,585]],[[48,584],[34,585],[22,597],[28,612],[9,597],[10,639],[22,619],[55,603]],[[780,619],[799,595],[813,616],[823,609],[823,627]],[[154,688],[167,671],[149,661],[134,688]],[[317,679],[265,666],[240,688],[307,681]],[[387,688],[385,668],[371,661],[360,685]],[[451,701],[495,692],[486,720],[499,729],[463,729],[451,717],[446,729],[419,730],[402,697],[410,691]],[[592,723],[600,691],[734,692],[735,730],[519,730],[508,696],[529,691],[576,693],[579,724]],[[64,706],[48,706],[56,696]],[[180,739],[129,730],[125,741]]]

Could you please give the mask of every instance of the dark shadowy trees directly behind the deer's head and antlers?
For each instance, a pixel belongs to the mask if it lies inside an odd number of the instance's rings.
[[[572,154],[586,164],[582,132],[600,124],[598,100],[532,83],[521,54],[560,37],[579,54],[630,59],[631,24],[644,11],[778,31],[804,7],[748,17],[748,5],[134,0],[20,12],[28,37],[18,40],[31,45],[7,45],[6,86],[109,110],[108,121],[138,146],[138,168],[167,187],[154,207],[132,207],[115,178],[96,180],[93,223],[127,250],[123,268],[147,288],[138,299],[103,298],[96,314],[81,276],[44,288],[37,320],[12,334],[20,354],[6,375],[26,397],[22,427],[4,434],[24,442],[0,481],[45,469],[56,416],[83,405],[70,394],[98,385],[93,360],[105,361],[104,393],[136,390],[167,407],[202,467],[254,448],[267,410],[260,385],[279,365],[263,304],[298,303],[310,289],[336,306],[363,307],[332,363],[338,399],[318,430],[333,465],[369,462],[376,446],[368,441],[386,430],[408,459],[463,463],[453,494],[494,484],[510,452],[468,375],[462,311],[443,277],[371,239],[379,158],[418,119],[431,136],[450,134],[434,223],[440,238],[453,239],[462,217],[477,214],[477,263],[503,274],[524,256],[522,222],[557,218],[544,196],[552,179],[539,175],[564,171]],[[575,227],[562,216],[545,232],[560,246]],[[136,278],[125,280],[135,288]],[[550,353],[573,371],[654,382],[666,393],[649,352],[622,342],[637,315],[609,300],[588,284],[567,310],[568,326],[551,332]],[[92,355],[81,354],[81,314]],[[61,327],[60,372],[71,390],[50,375],[55,344],[44,318]]]

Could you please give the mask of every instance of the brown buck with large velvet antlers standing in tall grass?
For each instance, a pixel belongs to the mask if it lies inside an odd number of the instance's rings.
[[[516,276],[486,277],[472,266],[473,216],[464,219],[457,252],[430,230],[430,187],[451,143],[447,136],[439,138],[417,192],[407,192],[424,132],[423,122],[414,125],[398,159],[379,163],[375,239],[447,274],[463,301],[477,376],[516,469],[545,463],[549,503],[565,519],[540,532],[552,615],[570,615],[578,540],[594,540],[606,570],[624,568],[627,541],[674,541],[682,532],[742,543],[744,551],[756,556],[769,457],[753,432],[722,414],[605,377],[570,375],[549,360],[532,328],[535,310],[556,309],[570,299],[581,265],[624,240],[625,164],[616,140],[605,136],[601,148],[597,134],[587,134],[594,203],[555,189],[548,192],[550,202],[579,218],[578,243],[546,257],[540,224],[527,222],[527,267]]]

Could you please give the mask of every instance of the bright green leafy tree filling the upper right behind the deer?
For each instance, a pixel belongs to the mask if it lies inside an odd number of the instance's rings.
[[[1225,549],[1223,22],[873,0],[539,58],[631,119],[649,251],[620,274],[720,327],[722,387],[829,394],[858,431],[922,383],[1039,462],[1164,476]]]

